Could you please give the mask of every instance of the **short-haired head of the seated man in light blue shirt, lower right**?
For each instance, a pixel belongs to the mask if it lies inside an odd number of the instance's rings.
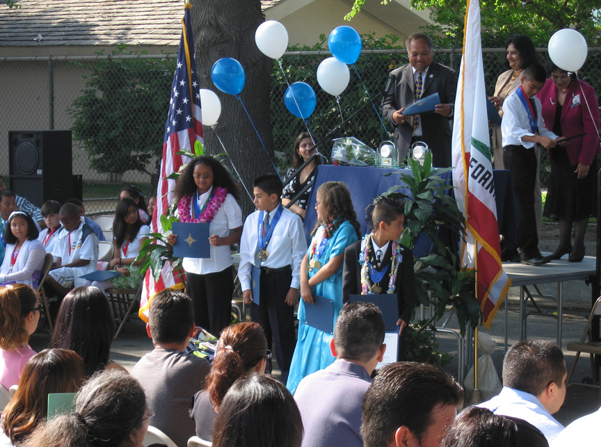
[[[552,341],[524,340],[511,346],[503,361],[504,387],[536,396],[550,414],[566,398],[566,361]]]

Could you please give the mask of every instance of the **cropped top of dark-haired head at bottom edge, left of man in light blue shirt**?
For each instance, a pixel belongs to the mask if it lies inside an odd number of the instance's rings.
[[[450,425],[441,447],[515,447],[515,423],[490,409],[470,407]]]

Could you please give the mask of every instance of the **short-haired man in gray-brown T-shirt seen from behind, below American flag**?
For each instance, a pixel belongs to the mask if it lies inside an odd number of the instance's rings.
[[[179,447],[186,447],[195,434],[188,407],[194,393],[204,386],[211,368],[207,360],[184,353],[194,328],[192,301],[186,293],[157,293],[146,325],[154,350],[131,370],[131,375],[142,384],[148,408],[154,412],[150,425]]]

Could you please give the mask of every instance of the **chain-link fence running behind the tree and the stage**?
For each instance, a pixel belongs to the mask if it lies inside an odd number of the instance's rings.
[[[601,92],[601,48],[590,48],[579,76]],[[331,138],[355,136],[371,147],[390,139],[390,124],[378,115],[390,70],[408,63],[405,50],[364,50],[350,66],[351,81],[339,98],[319,88],[315,72],[328,51],[286,53],[274,62],[271,120],[278,167],[291,165],[294,140],[305,131],[303,120],[291,115],[283,95],[287,83],[305,81],[315,90],[317,104],[309,118],[321,152],[330,156]],[[547,54],[540,49],[544,60]],[[134,184],[145,195],[154,193],[176,55],[69,56],[15,58],[0,56],[0,175],[9,174],[9,131],[70,129],[73,131],[73,174],[83,179],[88,213],[113,211],[123,186]],[[460,49],[435,50],[435,60],[458,70]],[[483,49],[488,95],[506,70],[505,49]],[[93,83],[93,86],[86,84]],[[86,89],[88,90],[86,92]],[[90,90],[91,89],[91,90]],[[220,93],[221,94],[221,93]],[[242,93],[243,95],[243,93]],[[374,99],[374,106],[367,105]],[[376,111],[377,110],[377,111]],[[339,131],[342,120],[353,117]],[[325,140],[324,140],[325,139]],[[541,181],[548,163],[541,161]]]

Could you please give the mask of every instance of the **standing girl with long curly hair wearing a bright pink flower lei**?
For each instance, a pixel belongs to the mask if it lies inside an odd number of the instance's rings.
[[[209,223],[211,256],[184,258],[182,266],[196,325],[218,336],[232,318],[234,273],[230,245],[239,243],[242,235],[239,190],[220,161],[202,155],[186,165],[174,196],[180,222]],[[167,241],[173,245],[177,234],[170,234]]]

